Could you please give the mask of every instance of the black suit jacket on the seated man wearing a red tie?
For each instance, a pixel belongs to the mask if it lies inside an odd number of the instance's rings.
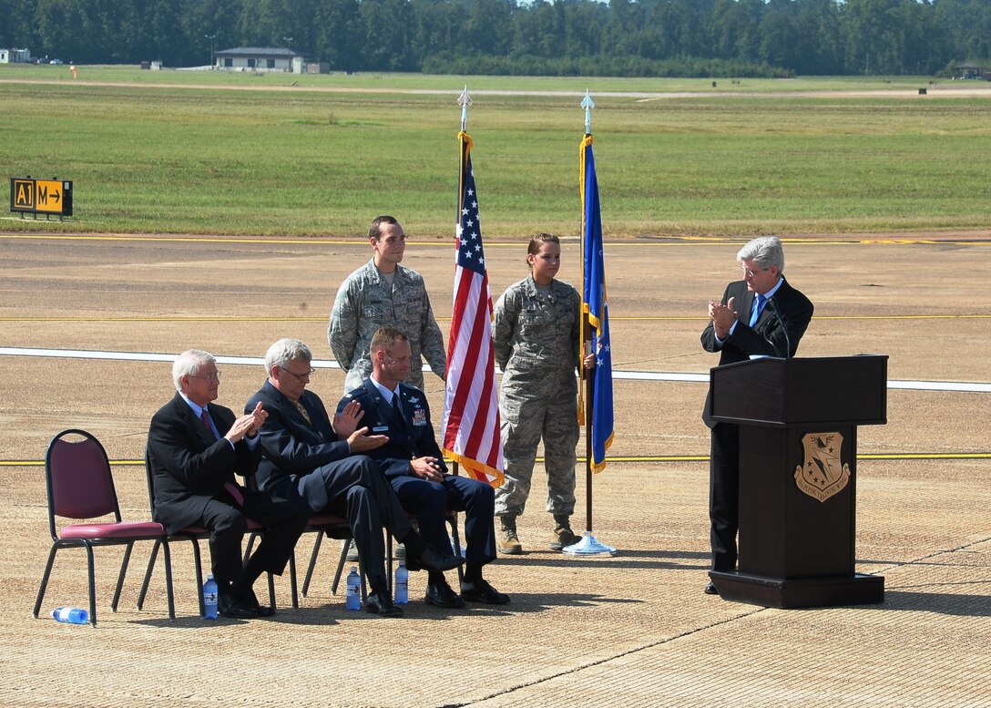
[[[220,434],[231,429],[235,417],[230,409],[209,404],[206,410]],[[169,533],[192,525],[207,502],[226,495],[224,483],[237,483],[235,472],[254,475],[262,454],[260,446],[253,451],[243,439],[233,447],[216,439],[177,393],[152,417],[148,451],[155,475],[155,520]]]

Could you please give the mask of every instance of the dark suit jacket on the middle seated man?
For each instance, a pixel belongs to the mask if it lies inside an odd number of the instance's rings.
[[[250,413],[259,402],[269,413],[260,433],[264,458],[258,468],[259,485],[263,490],[285,498],[295,496],[289,493],[290,489],[295,489],[306,498],[312,511],[325,509],[327,489],[324,480],[320,475],[309,473],[348,457],[351,454],[348,441],[334,432],[327,409],[312,391],[304,391],[299,399],[309,414],[309,423],[268,381],[251,397],[245,411]]]

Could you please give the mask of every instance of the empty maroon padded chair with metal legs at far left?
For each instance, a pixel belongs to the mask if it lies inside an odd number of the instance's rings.
[[[68,436],[81,440],[66,439]],[[175,619],[172,602],[172,575],[168,557],[165,528],[156,522],[125,522],[121,520],[117,491],[110,472],[110,461],[100,441],[84,430],[62,430],[49,443],[45,453],[45,477],[49,496],[49,529],[52,550],[38,589],[34,616],[38,617],[48,588],[55,553],[62,548],[84,548],[89,571],[89,621],[96,626],[96,581],[93,569],[93,548],[98,545],[125,546],[124,559],[117,576],[117,588],[110,609],[117,611],[121,588],[127,574],[131,549],[136,541],[151,540],[156,550],[161,543],[165,553],[165,589],[168,596],[168,618]],[[91,520],[85,524],[58,527],[55,517]],[[113,521],[99,521],[113,517]],[[147,579],[146,579],[147,582]]]

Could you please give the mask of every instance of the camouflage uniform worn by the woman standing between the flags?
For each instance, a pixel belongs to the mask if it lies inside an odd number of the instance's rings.
[[[567,283],[538,288],[529,277],[495,303],[495,362],[502,370],[499,416],[505,483],[495,490],[495,516],[523,513],[541,436],[547,511],[575,510],[578,371],[582,300]]]

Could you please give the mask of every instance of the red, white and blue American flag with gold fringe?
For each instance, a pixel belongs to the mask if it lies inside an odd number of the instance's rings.
[[[447,346],[444,454],[475,479],[502,484],[502,440],[495,390],[493,299],[472,173],[472,139],[462,131],[454,312]]]

